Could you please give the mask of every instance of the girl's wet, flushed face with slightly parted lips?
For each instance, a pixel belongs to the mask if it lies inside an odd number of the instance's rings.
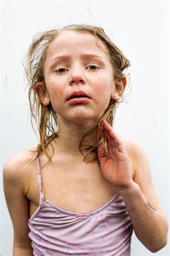
[[[102,42],[101,46],[105,49]],[[115,89],[112,65],[96,45],[95,36],[76,31],[62,32],[49,44],[44,78],[57,118],[75,122],[99,120]],[[67,100],[80,90],[90,98],[81,103]]]

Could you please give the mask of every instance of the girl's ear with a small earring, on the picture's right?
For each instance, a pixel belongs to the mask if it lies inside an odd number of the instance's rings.
[[[118,101],[123,95],[126,84],[127,84],[127,79],[125,75],[123,75],[121,78],[116,78],[115,85],[114,85],[115,89],[114,89],[114,92],[112,92],[111,98]]]

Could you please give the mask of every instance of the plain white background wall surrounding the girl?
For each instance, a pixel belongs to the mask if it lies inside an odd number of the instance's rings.
[[[30,125],[21,60],[35,33],[61,23],[103,27],[131,61],[129,104],[119,105],[114,128],[145,149],[157,196],[169,217],[169,2],[2,1],[1,22],[1,255],[12,255],[13,248],[3,166],[15,153],[38,143]],[[131,254],[152,255],[134,232]],[[169,255],[169,243],[154,255]]]

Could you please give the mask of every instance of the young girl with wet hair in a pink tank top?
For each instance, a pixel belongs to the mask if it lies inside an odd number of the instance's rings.
[[[33,39],[25,71],[40,143],[3,171],[14,256],[130,255],[133,229],[151,252],[166,245],[146,154],[112,128],[129,66],[100,27]]]

